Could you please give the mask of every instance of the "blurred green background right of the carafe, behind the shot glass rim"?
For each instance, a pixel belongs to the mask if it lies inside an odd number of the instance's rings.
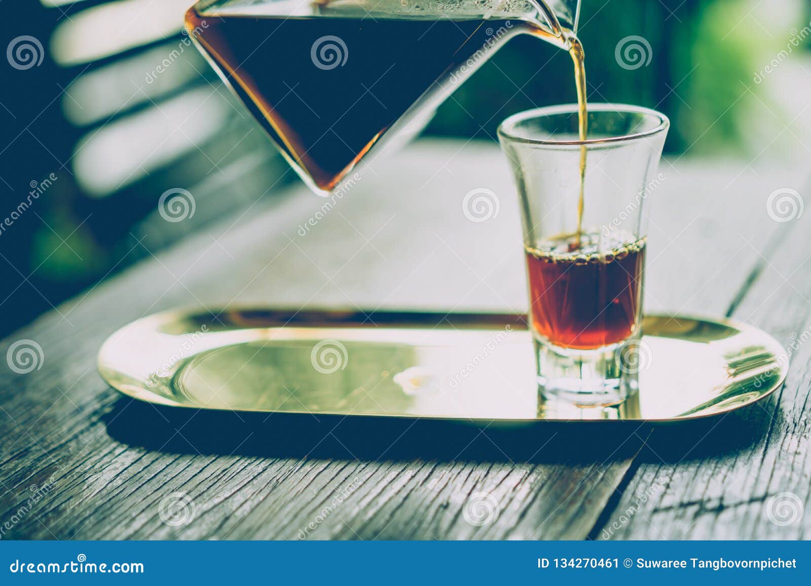
[[[787,121],[796,115],[791,106],[775,101],[769,83],[755,83],[754,74],[794,37],[797,53],[809,48],[811,34],[802,34],[809,18],[811,2],[806,0],[582,0],[578,36],[586,49],[588,99],[666,113],[672,121],[667,152],[697,148],[696,154],[752,155],[763,145],[749,128],[749,117],[763,103]],[[617,66],[616,45],[633,35],[650,43],[650,64],[624,69]],[[792,55],[791,64],[798,57]],[[539,70],[542,75],[536,75]],[[797,72],[793,91],[811,90],[806,71]],[[572,79],[566,54],[519,36],[454,94],[428,131],[495,136],[496,126],[510,113],[577,101]]]

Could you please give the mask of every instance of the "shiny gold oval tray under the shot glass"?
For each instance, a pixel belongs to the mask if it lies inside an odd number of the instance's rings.
[[[783,383],[778,342],[730,319],[648,315],[640,391],[612,407],[539,400],[526,317],[187,310],[139,319],[99,352],[136,399],[178,407],[470,421],[681,421]]]

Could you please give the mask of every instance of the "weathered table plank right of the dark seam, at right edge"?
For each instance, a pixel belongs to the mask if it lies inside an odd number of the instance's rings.
[[[790,184],[790,183],[789,183]],[[762,191],[752,206],[763,225]],[[807,239],[811,218],[779,224],[757,250],[752,282],[732,307],[732,317],[774,335],[788,350],[785,386],[763,404],[719,417],[701,434],[655,430],[616,508],[603,515],[595,538],[803,539],[811,486],[808,421],[811,360],[811,277]],[[751,233],[732,238],[749,239]]]

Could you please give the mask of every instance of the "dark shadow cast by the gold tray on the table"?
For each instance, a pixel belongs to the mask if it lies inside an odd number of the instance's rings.
[[[754,409],[761,409],[754,406]],[[676,464],[751,445],[767,425],[753,408],[680,424],[630,421],[475,425],[395,417],[232,413],[122,398],[105,417],[111,437],[148,450],[271,458]]]

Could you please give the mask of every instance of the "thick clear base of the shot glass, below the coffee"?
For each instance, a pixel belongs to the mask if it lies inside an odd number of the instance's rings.
[[[561,348],[535,340],[538,392],[543,400],[564,400],[579,407],[606,407],[622,403],[639,390],[638,374],[625,368],[625,349],[637,340],[625,340],[595,350]]]

